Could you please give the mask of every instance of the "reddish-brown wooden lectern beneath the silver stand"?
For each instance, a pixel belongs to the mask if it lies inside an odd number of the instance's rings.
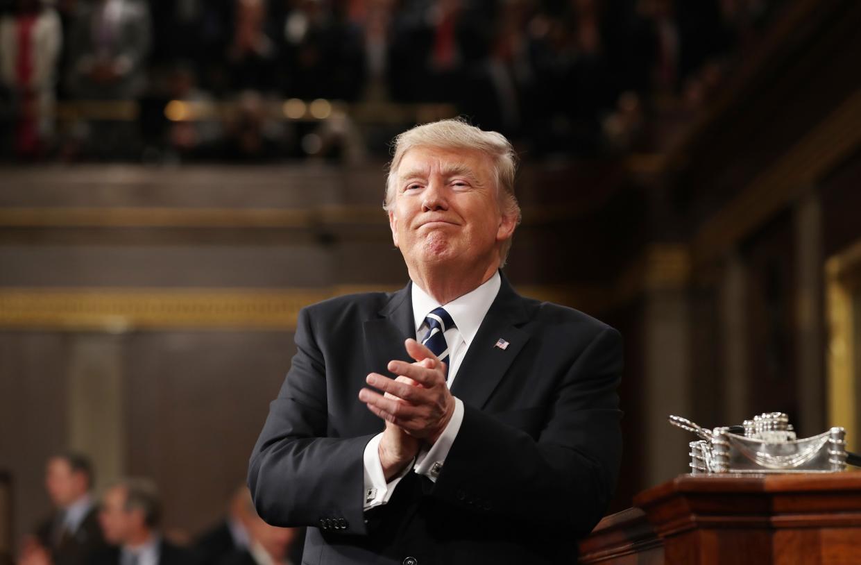
[[[602,565],[861,564],[861,473],[681,475],[580,543]]]

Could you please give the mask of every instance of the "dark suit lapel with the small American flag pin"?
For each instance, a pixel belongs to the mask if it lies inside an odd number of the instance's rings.
[[[523,298],[502,276],[499,294],[469,345],[461,368],[457,369],[451,394],[469,406],[483,408],[514,358],[529,341],[530,334],[517,327],[526,320]],[[505,349],[495,346],[499,339],[508,342]]]

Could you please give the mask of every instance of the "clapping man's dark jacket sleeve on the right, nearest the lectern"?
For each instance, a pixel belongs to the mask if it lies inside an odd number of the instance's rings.
[[[431,493],[472,512],[577,536],[592,531],[610,502],[622,454],[622,358],[621,336],[604,326],[565,372],[538,438],[465,407]]]

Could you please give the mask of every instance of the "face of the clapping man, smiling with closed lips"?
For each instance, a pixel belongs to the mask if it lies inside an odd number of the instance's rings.
[[[500,211],[496,174],[484,153],[413,147],[395,183],[388,220],[408,266],[499,266],[499,243],[511,237],[515,218]]]

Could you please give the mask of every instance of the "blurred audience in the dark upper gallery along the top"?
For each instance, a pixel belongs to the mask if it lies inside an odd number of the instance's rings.
[[[268,162],[321,155],[355,160],[369,152],[385,154],[388,129],[398,130],[397,124],[387,128],[349,111],[345,120],[325,124],[313,121],[329,121],[329,115],[297,118],[261,110],[289,98],[447,103],[481,127],[505,133],[533,159],[658,150],[709,101],[734,59],[756,47],[784,5],[778,0],[51,4],[56,10],[39,0],[0,0],[5,86],[0,97],[15,108],[0,115],[6,128],[0,130],[0,158],[52,156],[46,147],[55,92],[66,102],[131,104],[80,111],[78,106],[63,115],[59,155],[70,160]],[[58,61],[65,77],[59,85],[53,78]],[[210,108],[226,102],[232,110],[176,120],[168,111],[173,101],[212,102]],[[416,119],[411,111],[392,108],[375,111],[389,120],[399,112],[403,121]],[[76,115],[90,120],[75,121]],[[333,145],[324,138],[340,141]]]

